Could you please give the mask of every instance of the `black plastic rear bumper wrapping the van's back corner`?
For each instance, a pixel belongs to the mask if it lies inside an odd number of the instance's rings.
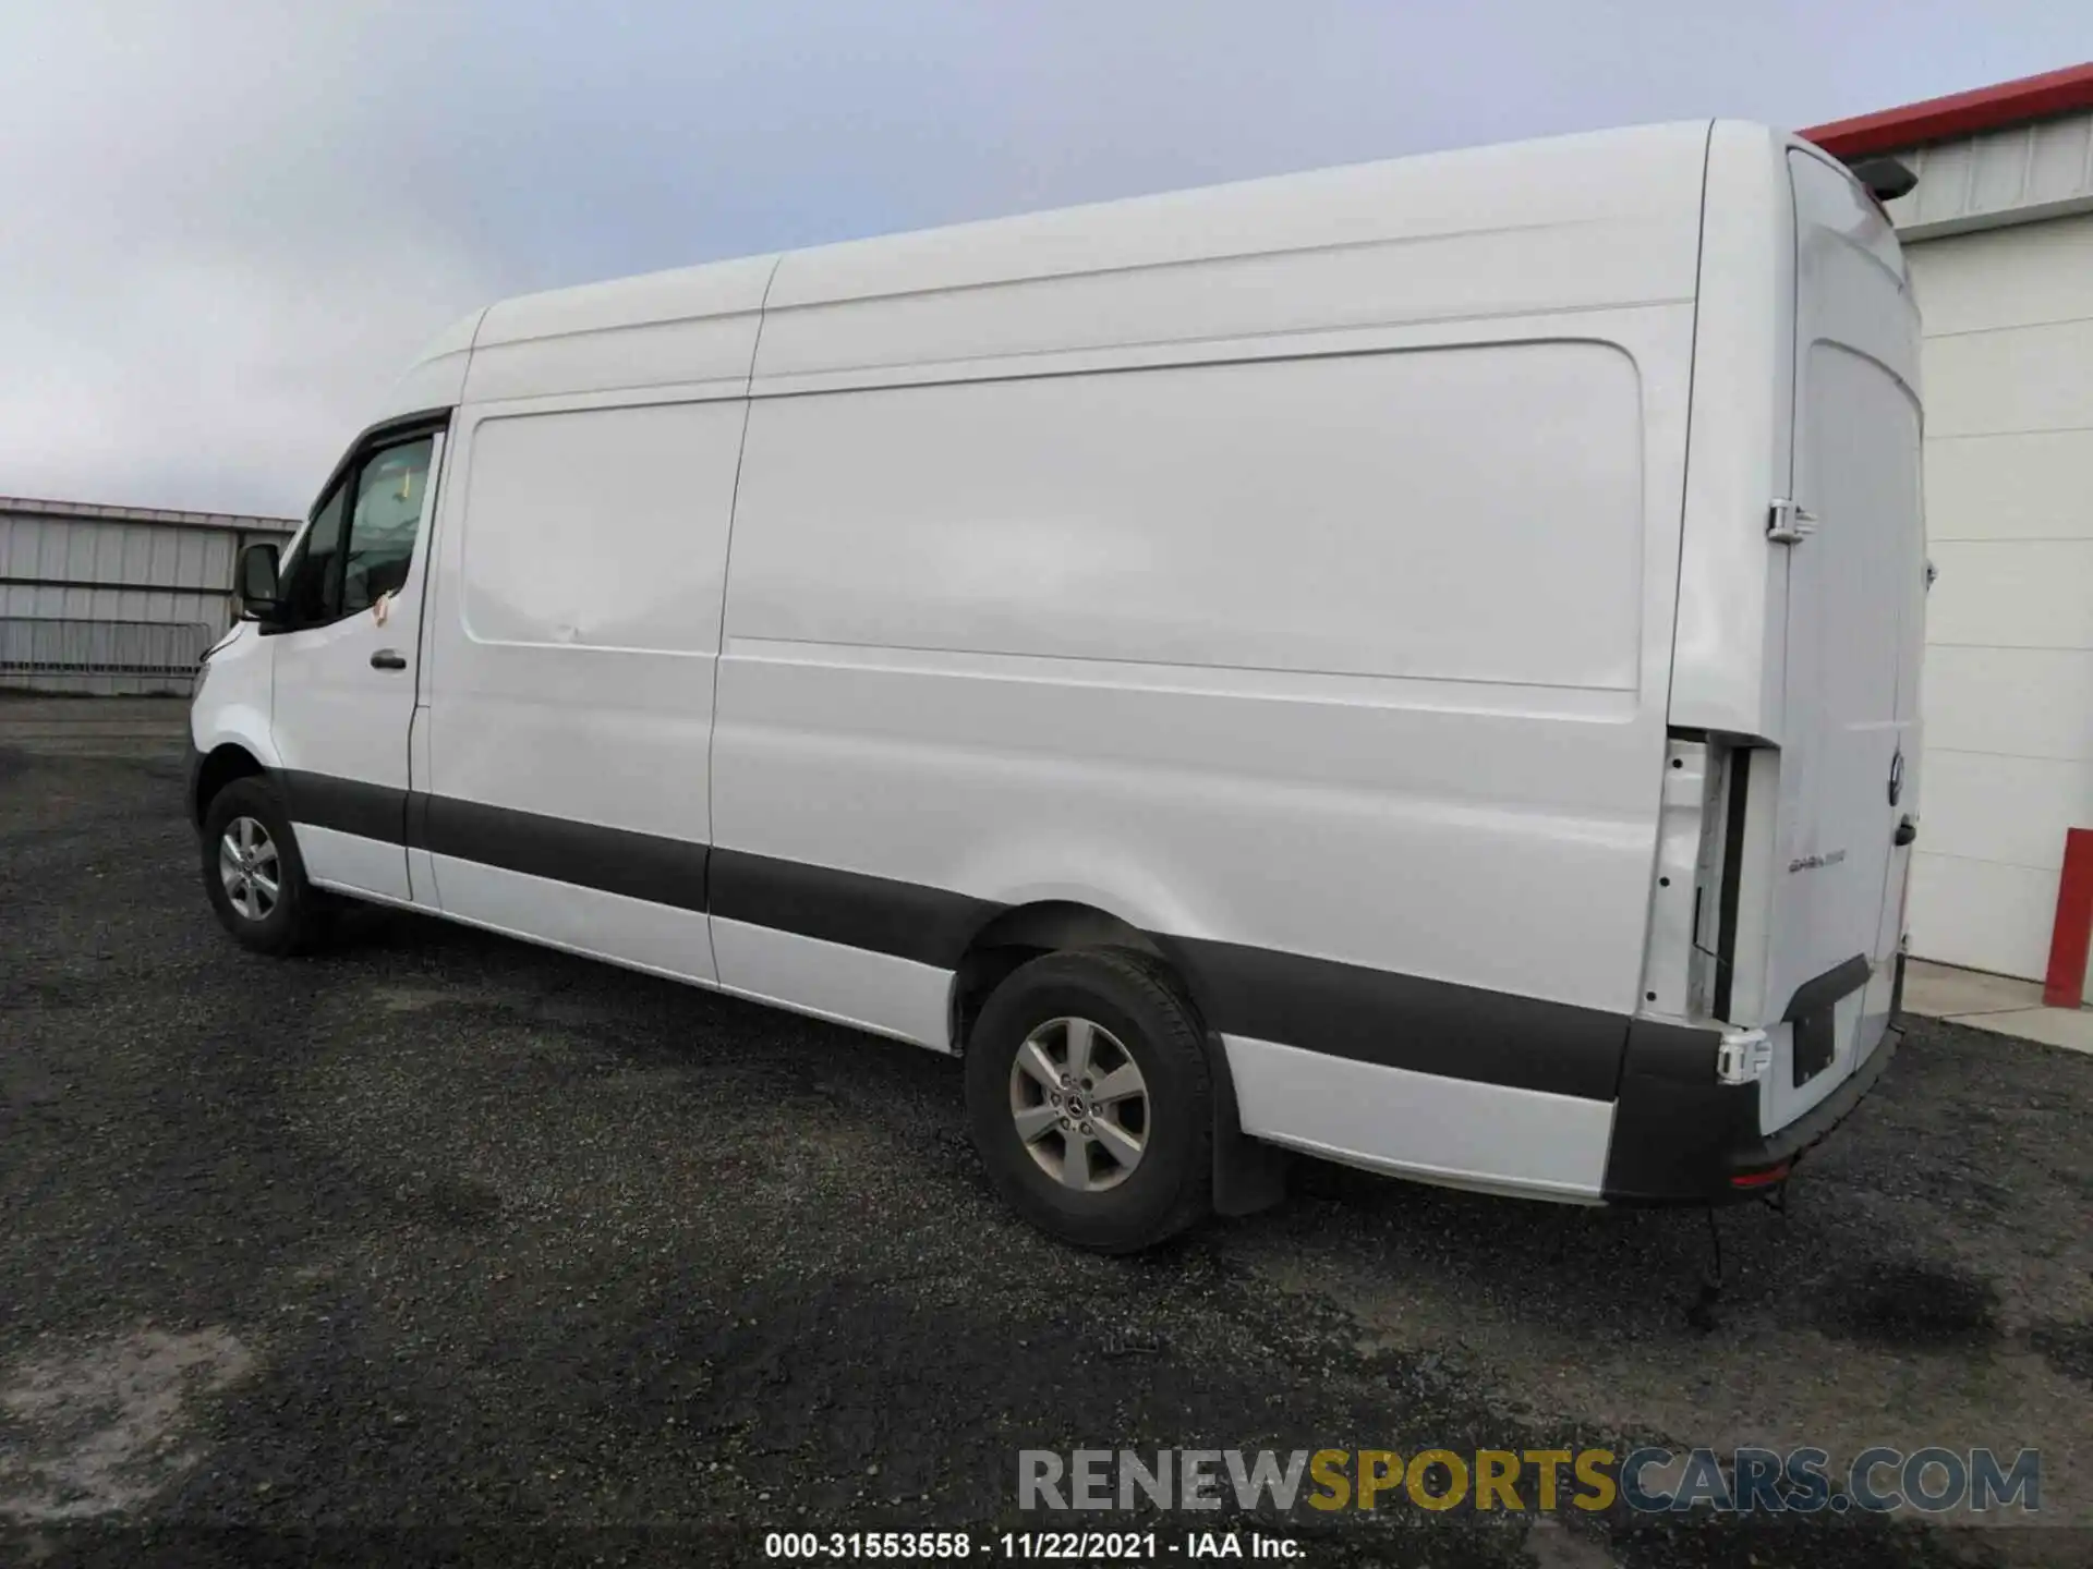
[[[1637,1021],[1601,1195],[1618,1205],[1718,1205],[1764,1192],[1882,1082],[1900,1038],[1892,1015],[1844,1084],[1785,1128],[1762,1134],[1758,1084],[1714,1077],[1716,1033]],[[1737,1178],[1758,1182],[1739,1186]]]

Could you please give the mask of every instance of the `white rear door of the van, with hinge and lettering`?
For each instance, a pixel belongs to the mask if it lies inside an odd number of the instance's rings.
[[[1896,232],[1827,159],[1792,149],[1794,471],[1760,1119],[1790,1123],[1880,1044],[1903,937],[1917,787],[1926,542],[1919,322]]]

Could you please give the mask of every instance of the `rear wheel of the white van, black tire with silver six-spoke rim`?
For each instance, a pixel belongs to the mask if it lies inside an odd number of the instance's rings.
[[[1067,1073],[1078,1050],[1086,1075]],[[1099,1253],[1136,1253],[1197,1224],[1214,1188],[1206,1052],[1206,1025],[1147,954],[1070,950],[1013,971],[967,1044],[967,1121],[996,1190],[1040,1230]],[[1088,1098],[1084,1077],[1109,1098]]]

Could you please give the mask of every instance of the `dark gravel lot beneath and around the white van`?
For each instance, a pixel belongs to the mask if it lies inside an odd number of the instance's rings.
[[[760,1559],[1021,1448],[2043,1450],[2051,1527],[1304,1519],[1308,1563],[2093,1561],[2093,1061],[1913,1021],[1790,1211],[1302,1167],[1143,1259],[952,1061],[433,920],[213,925],[180,705],[0,701],[0,1561]],[[1201,1521],[1203,1523],[1203,1521]],[[1176,1531],[1178,1523],[1166,1529]]]

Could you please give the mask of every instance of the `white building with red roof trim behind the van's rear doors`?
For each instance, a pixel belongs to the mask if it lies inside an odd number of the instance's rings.
[[[2039,979],[2066,835],[2093,828],[2093,63],[1802,134],[1919,176],[1890,203],[1940,569],[1911,952]]]

